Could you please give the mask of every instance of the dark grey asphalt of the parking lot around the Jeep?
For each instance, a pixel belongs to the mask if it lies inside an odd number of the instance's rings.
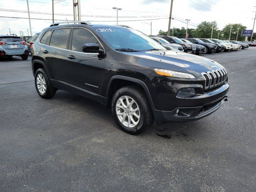
[[[203,57],[228,70],[228,101],[136,136],[93,100],[60,90],[40,98],[31,57],[1,60],[0,191],[255,191],[256,48]]]

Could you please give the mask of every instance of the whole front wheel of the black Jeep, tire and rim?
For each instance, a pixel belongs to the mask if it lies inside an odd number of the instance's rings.
[[[111,106],[116,123],[130,134],[142,132],[154,121],[146,94],[136,86],[126,86],[117,90]]]

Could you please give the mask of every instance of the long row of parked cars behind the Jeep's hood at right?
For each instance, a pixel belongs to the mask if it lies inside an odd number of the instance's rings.
[[[206,38],[177,38],[174,36],[151,36],[166,49],[180,50],[192,54],[210,54],[215,52],[228,52],[256,46],[256,42],[227,41]]]

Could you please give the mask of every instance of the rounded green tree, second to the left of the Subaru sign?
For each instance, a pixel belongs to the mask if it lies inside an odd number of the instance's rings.
[[[213,33],[212,33],[212,27],[213,27]],[[196,28],[195,34],[198,38],[217,38],[218,37],[218,27],[216,21],[208,22],[203,21],[198,25]]]

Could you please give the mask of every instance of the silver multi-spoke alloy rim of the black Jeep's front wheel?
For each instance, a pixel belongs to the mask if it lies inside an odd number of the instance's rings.
[[[140,121],[140,108],[133,98],[121,96],[116,102],[116,115],[124,126],[133,128]]]

